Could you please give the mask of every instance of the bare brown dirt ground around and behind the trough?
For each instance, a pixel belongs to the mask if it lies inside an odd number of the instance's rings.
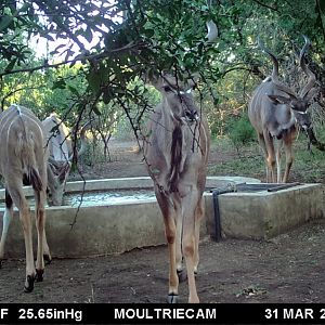
[[[113,162],[84,168],[86,178],[146,176],[134,143],[115,143]],[[232,159],[213,152],[210,164]],[[208,237],[200,243],[197,275],[202,302],[325,302],[325,220],[304,224],[271,240]],[[25,261],[5,260],[0,302],[166,302],[166,246],[118,256],[54,259],[44,281],[23,294]],[[180,286],[180,302],[187,285]]]

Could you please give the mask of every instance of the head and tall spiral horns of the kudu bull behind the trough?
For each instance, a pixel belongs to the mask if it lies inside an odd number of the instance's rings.
[[[304,46],[300,51],[299,55],[299,65],[303,73],[308,76],[308,82],[302,88],[302,90],[297,94],[291,88],[285,86],[278,80],[278,61],[276,56],[266,49],[260,39],[258,39],[259,47],[262,49],[263,52],[268,53],[273,62],[273,72],[272,72],[272,81],[275,84],[276,89],[281,91],[281,94],[269,94],[269,99],[275,104],[285,104],[290,107],[297,123],[308,130],[311,127],[310,116],[308,114],[308,107],[311,99],[316,92],[316,89],[313,88],[315,84],[316,78],[315,75],[309,69],[306,64],[304,54],[310,47],[310,40],[308,37],[303,36],[304,38]]]

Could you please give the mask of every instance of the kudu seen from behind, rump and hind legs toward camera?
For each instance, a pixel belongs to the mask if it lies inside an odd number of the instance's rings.
[[[43,252],[50,256],[46,239],[46,199],[48,150],[40,120],[27,108],[12,105],[0,115],[0,173],[5,181],[5,211],[0,243],[0,261],[3,258],[5,235],[13,218],[13,205],[20,211],[26,250],[26,282],[24,290],[30,292],[36,281],[42,281]],[[34,264],[31,219],[23,183],[31,184],[35,192],[35,217],[38,238],[37,260]]]

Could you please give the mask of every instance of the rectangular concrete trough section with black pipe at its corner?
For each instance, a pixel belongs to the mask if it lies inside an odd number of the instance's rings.
[[[234,192],[217,196],[218,205],[213,195],[206,199],[207,230],[217,239],[277,236],[323,218],[324,190],[322,184],[238,184]]]

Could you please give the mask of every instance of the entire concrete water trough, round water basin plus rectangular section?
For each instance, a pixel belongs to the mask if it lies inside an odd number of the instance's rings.
[[[245,190],[244,184],[250,188]],[[67,198],[68,205],[47,208],[47,235],[52,256],[100,256],[165,244],[162,218],[152,188],[150,178],[67,183],[67,196],[75,194],[75,198]],[[212,194],[212,188],[223,194],[216,195],[216,191]],[[27,196],[32,195],[29,187],[25,191]],[[123,198],[119,200],[116,199],[116,191],[127,191],[127,194],[120,193]],[[235,192],[226,193],[229,191]],[[98,199],[89,200],[90,194]],[[3,198],[4,191],[0,191],[0,200]],[[219,239],[220,225],[222,236],[270,238],[310,219],[323,217],[323,202],[324,188],[321,184],[294,184],[288,188],[277,184],[270,191],[257,179],[210,177],[205,193],[206,218],[202,224],[202,235]],[[3,211],[2,206],[0,225]],[[35,229],[34,236],[36,240]],[[6,256],[21,258],[24,251],[20,220],[14,218],[9,231]]]

